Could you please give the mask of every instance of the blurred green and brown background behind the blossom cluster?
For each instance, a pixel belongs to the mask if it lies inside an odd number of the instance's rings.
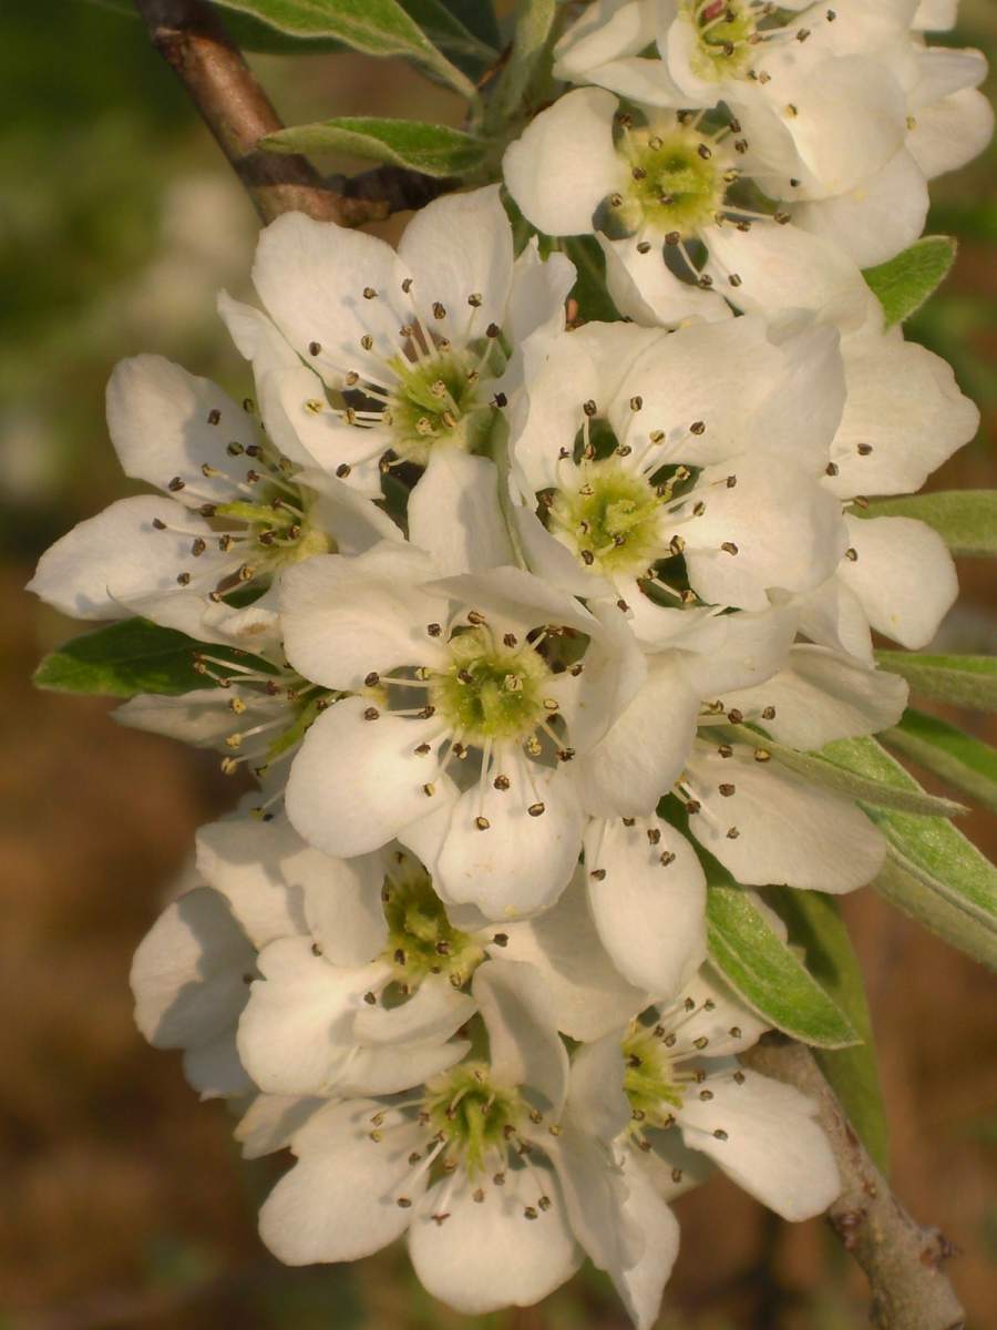
[[[993,0],[961,11],[946,41],[997,51]],[[136,20],[47,0],[7,5],[0,31],[0,1330],[622,1330],[594,1273],[541,1309],[468,1321],[420,1291],[401,1250],[348,1269],[282,1269],[254,1228],[280,1161],[239,1164],[223,1107],[198,1105],[178,1059],[148,1049],[132,1025],[130,954],[195,826],[233,787],[211,758],[117,729],[100,700],[33,693],[39,656],[76,625],[21,588],[56,536],[136,488],[104,426],[118,358],[158,351],[245,395],[214,294],[249,294],[255,218]],[[253,63],[288,122],[459,122],[455,98],[396,64]],[[997,483],[996,160],[992,148],[936,184],[929,229],[958,235],[961,253],[909,327],[984,411],[980,439],[936,477],[940,488]],[[992,565],[960,572],[944,641],[993,650]],[[982,717],[966,720],[986,733]],[[993,827],[964,826],[997,850]],[[869,892],[847,910],[879,1033],[896,1189],[961,1249],[952,1274],[970,1323],[986,1330],[993,986]],[[719,1177],[678,1212],[683,1250],[662,1330],[865,1323],[863,1281],[819,1222],[782,1225]]]

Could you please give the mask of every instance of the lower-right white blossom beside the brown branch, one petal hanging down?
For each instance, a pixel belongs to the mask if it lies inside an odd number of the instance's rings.
[[[678,1248],[667,1201],[719,1166],[786,1220],[820,1214],[841,1188],[816,1104],[742,1067],[766,1025],[706,967],[674,1003],[581,1045],[565,1121],[602,1133],[622,1169],[617,1222],[645,1234],[609,1274],[637,1330],[650,1330]]]

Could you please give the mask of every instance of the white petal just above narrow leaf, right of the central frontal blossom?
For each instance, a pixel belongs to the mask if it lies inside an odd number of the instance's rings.
[[[779,743],[820,749],[835,739],[877,734],[896,725],[907,705],[897,674],[871,669],[826,646],[794,646],[790,665],[758,688],[723,694],[724,710],[746,716],[775,708],[762,725]]]

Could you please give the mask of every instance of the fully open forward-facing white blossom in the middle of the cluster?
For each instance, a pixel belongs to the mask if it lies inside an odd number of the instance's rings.
[[[550,904],[584,814],[650,813],[693,733],[687,682],[667,665],[651,677],[613,616],[517,568],[440,580],[412,545],[302,564],[283,591],[287,657],[356,696],[308,730],[288,817],[330,854],[397,837],[444,900],[489,918]],[[667,741],[638,745],[653,720]]]

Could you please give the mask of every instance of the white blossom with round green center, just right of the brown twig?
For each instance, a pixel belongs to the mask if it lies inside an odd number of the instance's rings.
[[[744,190],[740,128],[685,110],[638,122],[611,93],[578,88],[530,121],[502,170],[537,230],[597,234],[622,314],[675,325],[732,305],[860,325],[872,297],[857,266]]]

